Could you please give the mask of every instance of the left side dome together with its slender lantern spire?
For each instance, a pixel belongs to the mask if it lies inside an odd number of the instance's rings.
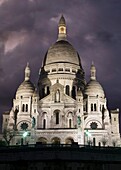
[[[27,63],[27,66],[25,68],[25,79],[20,84],[16,91],[16,97],[17,96],[32,96],[35,91],[35,87],[33,83],[30,81],[30,67]]]

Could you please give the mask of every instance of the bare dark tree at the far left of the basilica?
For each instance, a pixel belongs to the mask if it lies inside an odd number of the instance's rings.
[[[5,139],[5,142],[8,146],[10,145],[10,141],[12,140],[14,136],[15,136],[15,131],[10,130],[10,129],[3,130],[3,138]]]

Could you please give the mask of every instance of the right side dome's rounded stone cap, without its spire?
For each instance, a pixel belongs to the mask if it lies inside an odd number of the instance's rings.
[[[88,96],[99,96],[104,98],[104,90],[97,80],[90,80],[85,87],[85,94]]]

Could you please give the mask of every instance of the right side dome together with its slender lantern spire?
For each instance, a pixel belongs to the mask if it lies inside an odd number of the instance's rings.
[[[90,72],[90,81],[87,83],[84,93],[88,96],[99,96],[104,98],[104,90],[100,83],[96,80],[96,68],[93,63],[91,65]]]

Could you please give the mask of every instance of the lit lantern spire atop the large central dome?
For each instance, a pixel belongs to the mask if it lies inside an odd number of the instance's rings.
[[[58,41],[60,40],[66,40],[67,34],[66,34],[66,21],[63,15],[60,18],[59,24],[58,24]]]

